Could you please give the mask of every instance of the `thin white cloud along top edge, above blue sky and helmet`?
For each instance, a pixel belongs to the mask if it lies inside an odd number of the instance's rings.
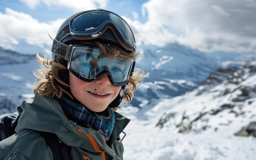
[[[87,8],[105,8],[108,0],[20,0],[31,9],[36,8],[40,4],[45,4],[48,7],[57,6],[80,11]]]

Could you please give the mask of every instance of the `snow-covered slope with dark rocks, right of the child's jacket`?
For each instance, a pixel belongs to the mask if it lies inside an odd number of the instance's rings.
[[[256,61],[218,69],[192,92],[119,112],[132,120],[127,160],[255,160]]]

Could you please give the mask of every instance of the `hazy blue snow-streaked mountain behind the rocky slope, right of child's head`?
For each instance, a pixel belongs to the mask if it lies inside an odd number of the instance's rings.
[[[141,48],[145,58],[137,61],[137,67],[150,75],[135,92],[132,105],[139,107],[194,90],[213,70],[241,66],[248,58],[239,53],[202,53],[177,43]]]

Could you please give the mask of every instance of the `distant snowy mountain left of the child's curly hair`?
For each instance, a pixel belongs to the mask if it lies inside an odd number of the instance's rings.
[[[0,48],[0,113],[16,111],[27,97],[33,95],[35,78],[33,70],[38,68],[34,55],[19,53]]]

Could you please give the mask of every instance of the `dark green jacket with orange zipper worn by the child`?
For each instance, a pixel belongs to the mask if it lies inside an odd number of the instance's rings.
[[[115,127],[110,139],[97,131],[72,123],[58,101],[35,94],[18,107],[16,134],[0,142],[0,160],[53,160],[52,151],[37,131],[55,133],[72,146],[72,160],[123,160],[124,148],[119,134],[129,119],[115,112]]]

